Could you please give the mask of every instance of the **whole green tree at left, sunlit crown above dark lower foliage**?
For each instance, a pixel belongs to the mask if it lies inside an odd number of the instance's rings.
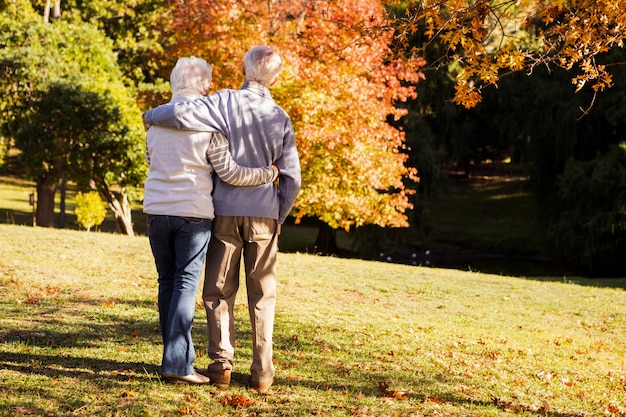
[[[133,234],[127,187],[145,176],[143,126],[111,42],[91,25],[46,24],[22,8],[0,14],[2,128],[37,181],[37,224],[53,225],[57,182],[67,176],[93,181],[118,230]]]

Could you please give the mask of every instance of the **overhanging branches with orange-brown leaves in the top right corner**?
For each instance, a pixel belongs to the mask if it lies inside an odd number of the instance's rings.
[[[428,45],[409,47],[416,28],[430,40],[447,48],[439,62],[456,61],[454,101],[473,107],[481,100],[481,89],[495,85],[502,71],[532,71],[537,65],[576,69],[576,90],[590,84],[602,91],[612,84],[604,66],[596,64],[599,54],[623,48],[626,37],[626,2],[614,0],[435,0],[399,2],[407,16],[394,21],[396,48],[421,56]]]

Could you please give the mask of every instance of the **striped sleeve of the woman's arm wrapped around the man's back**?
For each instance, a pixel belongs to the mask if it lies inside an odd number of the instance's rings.
[[[220,179],[230,185],[261,185],[276,178],[276,171],[271,167],[249,168],[239,165],[228,150],[228,140],[221,133],[211,135],[207,159]]]

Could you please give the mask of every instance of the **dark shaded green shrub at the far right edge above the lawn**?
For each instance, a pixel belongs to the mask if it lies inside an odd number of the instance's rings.
[[[626,270],[626,145],[570,160],[548,212],[553,253],[596,274]]]

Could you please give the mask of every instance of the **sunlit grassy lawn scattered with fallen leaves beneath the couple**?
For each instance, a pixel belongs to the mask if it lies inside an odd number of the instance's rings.
[[[168,385],[146,237],[0,225],[0,242],[2,416],[626,415],[626,279],[280,253],[260,396],[245,289],[231,387]]]

